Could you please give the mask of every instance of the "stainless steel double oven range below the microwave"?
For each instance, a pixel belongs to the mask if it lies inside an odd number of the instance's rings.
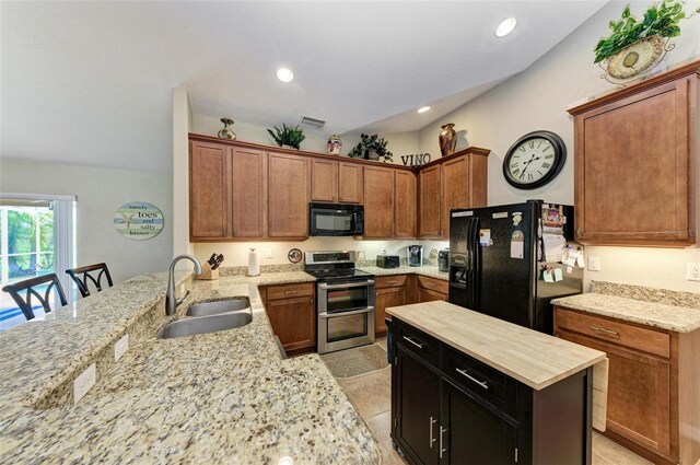
[[[306,252],[317,279],[318,353],[374,342],[374,275],[355,269],[354,251]]]

